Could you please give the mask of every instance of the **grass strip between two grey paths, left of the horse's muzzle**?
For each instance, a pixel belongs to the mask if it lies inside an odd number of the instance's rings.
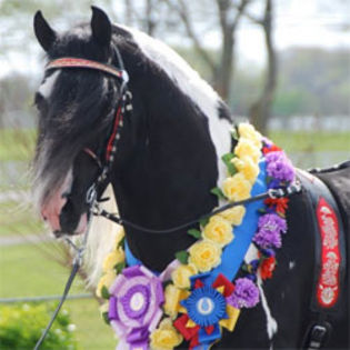
[[[16,201],[0,202],[0,236],[32,234],[44,231],[42,220],[36,218],[29,206]]]

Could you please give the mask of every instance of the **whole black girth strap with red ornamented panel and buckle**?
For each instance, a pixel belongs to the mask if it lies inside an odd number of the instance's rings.
[[[344,228],[338,204],[328,187],[317,177],[298,170],[312,208],[316,242],[313,292],[310,309],[314,317],[307,330],[303,349],[321,349],[331,331],[329,316],[341,307],[344,286]]]

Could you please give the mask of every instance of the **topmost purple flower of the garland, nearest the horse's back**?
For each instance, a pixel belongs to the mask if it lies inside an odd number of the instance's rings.
[[[266,154],[268,176],[281,181],[292,182],[296,177],[294,168],[283,151]]]

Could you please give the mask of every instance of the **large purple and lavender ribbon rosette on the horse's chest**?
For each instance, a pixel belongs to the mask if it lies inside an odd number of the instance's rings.
[[[108,317],[119,337],[117,349],[148,349],[164,302],[161,280],[143,266],[127,268],[109,289]]]

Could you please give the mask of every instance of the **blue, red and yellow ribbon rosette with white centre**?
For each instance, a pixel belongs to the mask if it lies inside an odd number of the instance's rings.
[[[210,349],[221,338],[221,327],[232,331],[240,313],[228,303],[234,286],[223,274],[211,283],[209,276],[210,272],[191,277],[191,293],[180,301],[187,313],[173,322],[190,341],[190,349]]]

